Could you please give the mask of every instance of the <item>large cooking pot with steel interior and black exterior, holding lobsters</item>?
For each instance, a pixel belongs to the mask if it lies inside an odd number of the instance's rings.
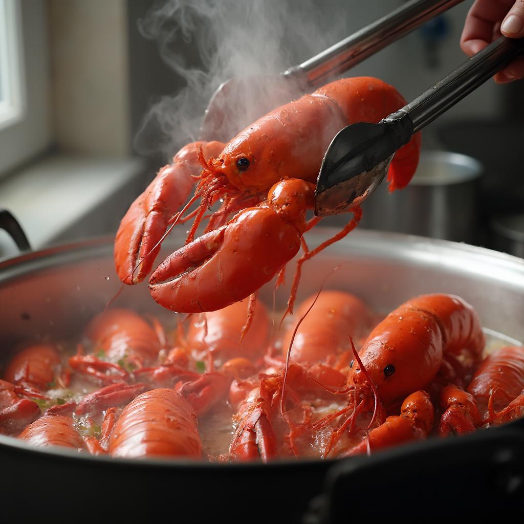
[[[329,235],[308,235],[314,246]],[[180,244],[173,237],[169,245]],[[166,251],[169,249],[167,246]],[[29,253],[0,263],[0,350],[30,336],[78,333],[120,288],[112,239]],[[455,293],[488,330],[524,340],[524,260],[487,249],[392,233],[356,231],[304,266],[299,299],[325,288],[351,291],[379,311],[420,293]],[[288,279],[289,280],[289,279]],[[279,292],[279,304],[287,299]],[[262,297],[268,303],[272,288]],[[145,285],[114,305],[172,315]],[[3,355],[0,355],[0,361]],[[519,421],[458,439],[433,439],[343,461],[209,464],[115,460],[36,449],[0,435],[0,515],[77,515],[177,522],[335,522],[394,508],[448,514],[524,509],[524,426]],[[484,502],[483,502],[484,501]],[[488,504],[485,504],[489,501]],[[457,509],[458,508],[458,509]],[[397,512],[397,511],[395,511]],[[342,520],[341,520],[342,521]]]

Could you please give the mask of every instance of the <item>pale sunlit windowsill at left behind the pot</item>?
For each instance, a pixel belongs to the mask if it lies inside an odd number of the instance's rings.
[[[114,232],[147,180],[139,158],[55,154],[0,180],[0,208],[23,227],[31,247]],[[18,252],[0,230],[0,258]]]

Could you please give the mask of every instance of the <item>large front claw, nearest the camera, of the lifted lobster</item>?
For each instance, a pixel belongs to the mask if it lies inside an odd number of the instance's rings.
[[[216,311],[269,282],[299,248],[298,231],[275,210],[248,208],[166,258],[151,275],[149,290],[171,311]]]

